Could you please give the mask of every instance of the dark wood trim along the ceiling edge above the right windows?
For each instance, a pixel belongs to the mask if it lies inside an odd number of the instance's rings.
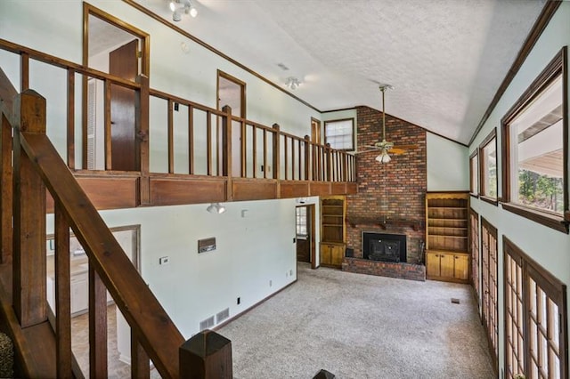
[[[507,76],[503,79],[501,85],[499,86],[499,89],[497,90],[497,93],[495,93],[493,97],[493,101],[491,101],[491,104],[489,104],[489,108],[487,108],[487,110],[485,111],[485,114],[481,118],[481,121],[479,121],[479,125],[477,125],[475,132],[471,136],[471,139],[469,140],[469,145],[473,143],[473,141],[475,141],[476,135],[479,132],[481,132],[483,125],[485,125],[485,122],[487,121],[489,116],[491,116],[493,109],[495,109],[497,103],[501,100],[501,96],[505,93],[505,91],[507,91],[507,88],[509,87],[510,83],[517,75],[518,70],[523,66],[526,57],[533,50],[534,44],[536,44],[539,37],[542,36],[542,31],[549,24],[550,19],[552,18],[552,16],[554,16],[554,13],[556,13],[556,11],[558,10],[558,6],[560,6],[560,4],[562,4],[562,1],[560,0],[550,0],[547,1],[546,4],[544,4],[541,14],[539,15],[536,22],[534,22],[533,28],[526,37],[525,44],[523,44],[520,51],[518,52],[517,58],[511,65],[509,72],[507,72]]]

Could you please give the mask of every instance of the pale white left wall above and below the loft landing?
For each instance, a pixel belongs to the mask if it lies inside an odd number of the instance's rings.
[[[246,82],[249,119],[264,125],[278,123],[281,130],[303,136],[310,133],[311,117],[321,118],[314,109],[124,2],[93,0],[90,3],[151,34],[152,88],[215,108],[217,69],[221,69]],[[0,2],[0,37],[80,63],[82,2],[50,2],[49,18],[45,12],[45,3],[41,1]],[[190,46],[189,53],[181,50],[181,42]],[[20,83],[19,64],[14,54],[0,51],[0,67],[16,84]],[[37,62],[30,64],[30,71],[30,86],[47,100],[48,135],[65,157],[66,107],[65,96],[61,94],[66,93],[66,72],[48,69]],[[77,93],[81,91],[79,83],[77,80]],[[151,104],[151,107],[151,117],[164,112],[159,106]],[[77,114],[77,134],[80,119]],[[151,169],[161,171],[167,157],[161,138],[166,133],[161,136],[156,132],[160,122],[154,118],[151,127],[155,130],[154,135],[151,131],[151,140],[154,138],[151,151],[156,154]],[[76,146],[80,146],[78,141]],[[318,198],[310,201],[318,204]],[[110,227],[141,224],[142,277],[185,337],[199,331],[199,321],[227,307],[232,317],[297,278],[293,243],[295,199],[236,202],[225,206],[224,214],[208,214],[207,205],[102,212]],[[242,210],[247,210],[245,217],[241,216]],[[316,212],[318,215],[318,206]],[[47,232],[53,232],[51,215]],[[198,239],[209,237],[216,237],[216,251],[198,254]],[[160,266],[159,257],[166,255],[170,263]],[[240,305],[236,304],[237,297],[241,299]]]

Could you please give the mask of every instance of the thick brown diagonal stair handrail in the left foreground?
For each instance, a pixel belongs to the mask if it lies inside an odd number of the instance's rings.
[[[54,202],[85,248],[90,265],[101,277],[118,309],[141,338],[160,375],[176,377],[183,336],[134,269],[109,228],[57,150],[44,134],[21,136],[22,148],[34,162]]]

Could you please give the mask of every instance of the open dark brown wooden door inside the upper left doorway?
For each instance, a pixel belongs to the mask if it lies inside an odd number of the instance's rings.
[[[134,39],[109,54],[111,75],[133,81],[138,75],[138,40]],[[118,85],[110,85],[110,150],[111,170],[139,171],[136,140],[136,93]]]

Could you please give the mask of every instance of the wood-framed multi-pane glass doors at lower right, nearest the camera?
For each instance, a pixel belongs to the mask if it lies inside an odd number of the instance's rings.
[[[503,237],[508,378],[566,378],[566,286]]]

